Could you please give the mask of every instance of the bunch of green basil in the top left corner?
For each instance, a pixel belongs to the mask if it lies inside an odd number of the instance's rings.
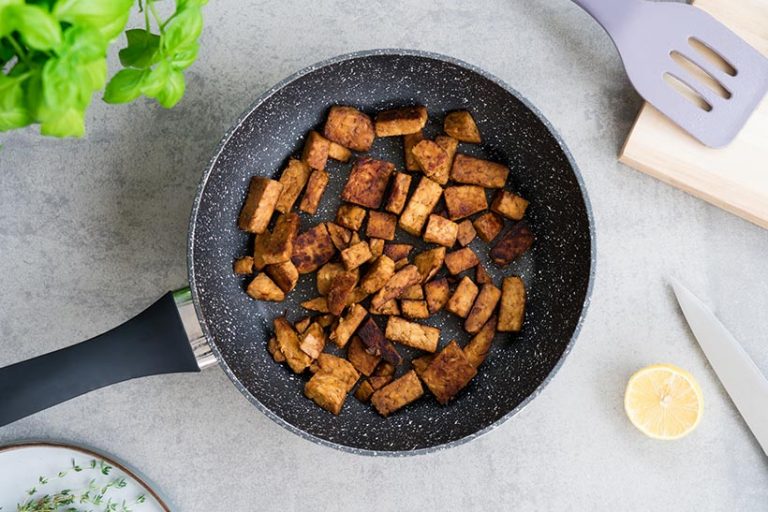
[[[165,108],[178,103],[207,0],[177,0],[166,19],[156,1],[138,1],[144,28],[126,31],[124,69],[107,83],[107,49],[133,0],[0,0],[0,131],[39,123],[43,135],[80,137],[93,94],[105,84],[107,103],[142,95]]]

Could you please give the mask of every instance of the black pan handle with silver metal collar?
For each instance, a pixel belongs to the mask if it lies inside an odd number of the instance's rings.
[[[0,368],[0,426],[111,384],[215,362],[189,289],[95,338]],[[199,333],[199,334],[198,334]]]

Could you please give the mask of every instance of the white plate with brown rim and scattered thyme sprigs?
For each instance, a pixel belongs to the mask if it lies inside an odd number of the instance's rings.
[[[81,471],[75,471],[73,463],[79,466]],[[108,475],[101,471],[104,466],[111,468]],[[60,472],[65,474],[59,476]],[[41,484],[40,477],[47,478],[47,483]],[[103,487],[121,478],[125,479],[125,486],[109,489],[106,498],[112,498],[118,504],[125,500],[132,512],[170,511],[146,481],[124,465],[91,450],[53,443],[25,443],[0,447],[0,510],[15,512],[17,504],[30,499],[27,492],[32,488],[35,492],[31,497],[39,498],[63,489],[71,489],[73,492],[86,490],[91,479],[95,485]],[[145,497],[144,502],[136,503],[137,498],[142,495]],[[104,501],[106,502],[106,499]],[[103,510],[105,505],[106,503],[100,507],[82,507]],[[117,510],[120,510],[119,506]]]

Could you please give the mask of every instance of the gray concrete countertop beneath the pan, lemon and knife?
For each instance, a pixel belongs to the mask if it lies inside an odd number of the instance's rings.
[[[186,279],[186,231],[212,150],[267,87],[380,47],[453,55],[506,80],[560,131],[597,229],[592,306],[560,373],[512,420],[411,458],[317,446],[252,407],[224,373],[102,389],[0,428],[139,467],[178,510],[765,510],[768,462],[676,306],[705,297],[768,372],[768,232],[617,163],[640,100],[608,38],[567,0],[220,0],[166,111],[96,100],[82,140],[0,135],[0,366],[96,335]],[[116,59],[112,56],[112,64]],[[627,421],[624,385],[672,362],[704,390],[677,442]]]

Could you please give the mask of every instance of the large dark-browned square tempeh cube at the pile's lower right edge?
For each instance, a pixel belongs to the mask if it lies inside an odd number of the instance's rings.
[[[445,405],[469,384],[475,375],[477,370],[454,340],[421,372],[421,380],[437,401]]]

